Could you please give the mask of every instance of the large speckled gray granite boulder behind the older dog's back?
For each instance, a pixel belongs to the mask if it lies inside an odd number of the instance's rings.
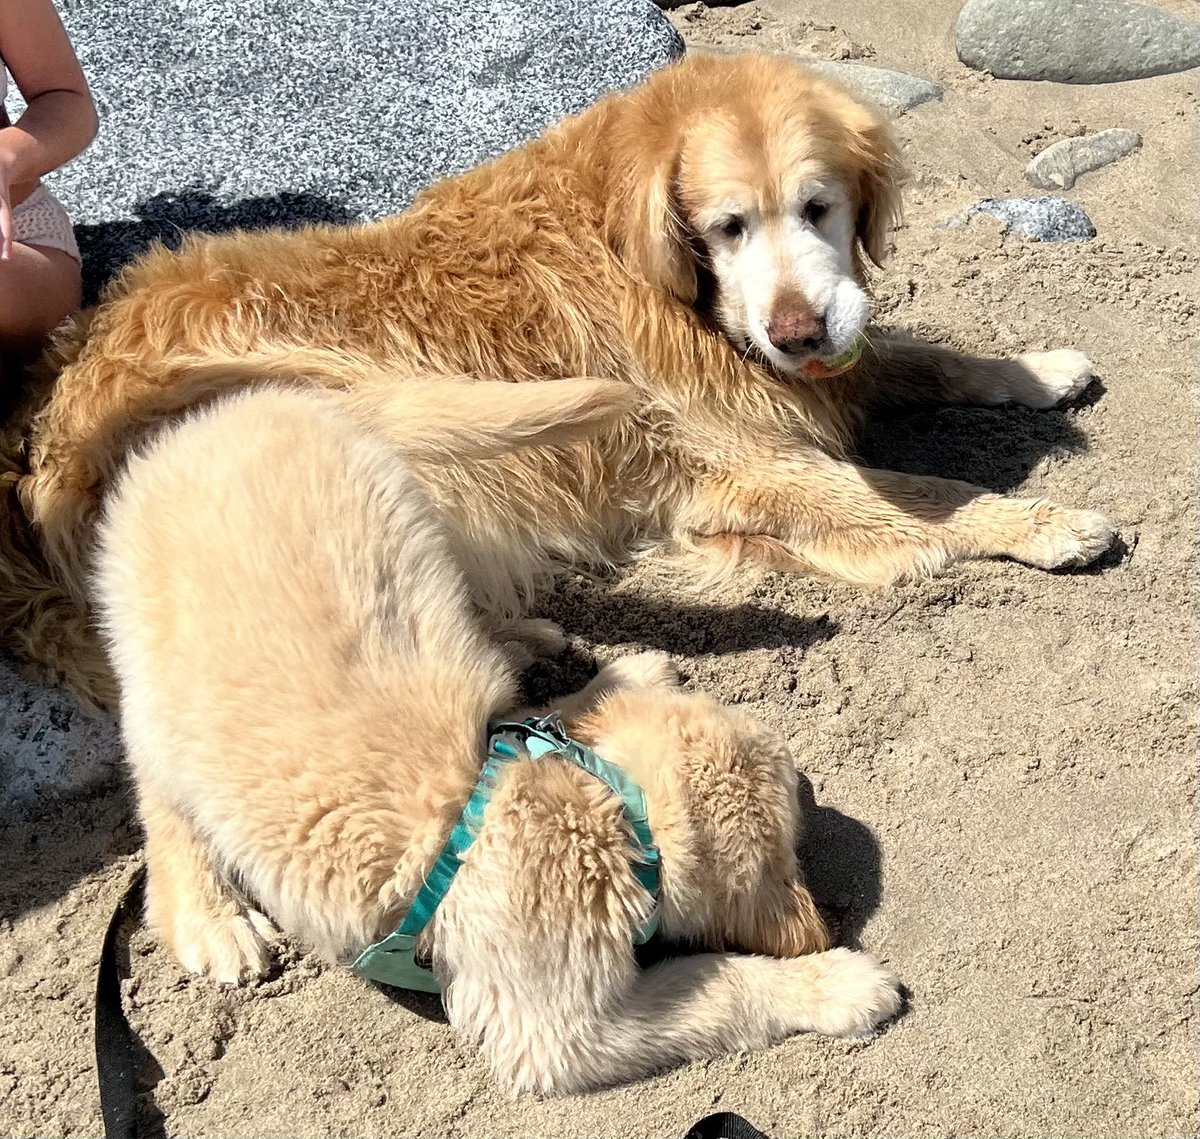
[[[181,229],[377,218],[683,54],[650,0],[88,0],[101,114],[49,180],[89,294]]]

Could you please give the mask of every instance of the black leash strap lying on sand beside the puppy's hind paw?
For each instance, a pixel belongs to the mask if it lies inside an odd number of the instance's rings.
[[[96,971],[96,1081],[104,1139],[137,1139],[138,1133],[138,1067],[145,1053],[125,1017],[116,951],[126,922],[142,912],[145,879],[145,867],[139,867],[116,903]]]

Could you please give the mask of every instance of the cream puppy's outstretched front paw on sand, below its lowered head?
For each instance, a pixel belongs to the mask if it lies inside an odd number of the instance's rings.
[[[900,982],[869,953],[829,949],[797,965],[811,970],[805,994],[811,1008],[803,1025],[810,1032],[870,1036],[904,1003]]]

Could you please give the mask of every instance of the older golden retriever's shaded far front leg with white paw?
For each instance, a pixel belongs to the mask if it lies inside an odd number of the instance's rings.
[[[907,337],[872,338],[859,368],[870,402],[883,406],[1019,403],[1044,409],[1073,400],[1092,382],[1091,361],[1070,348],[995,359]]]

